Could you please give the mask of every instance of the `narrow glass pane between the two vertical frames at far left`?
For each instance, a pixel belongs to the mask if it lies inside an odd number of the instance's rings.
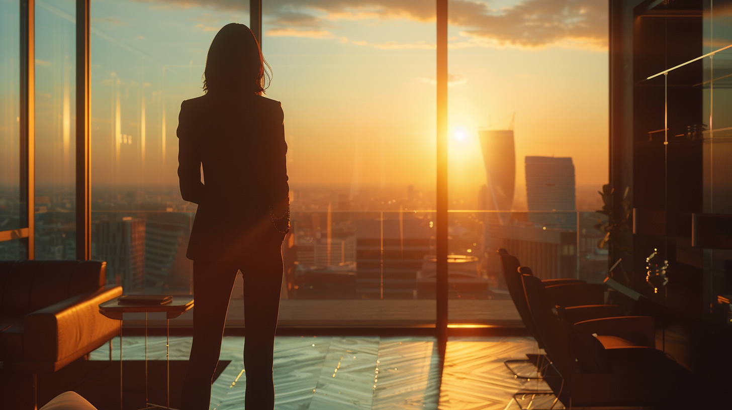
[[[36,1],[37,259],[75,259],[75,1]]]

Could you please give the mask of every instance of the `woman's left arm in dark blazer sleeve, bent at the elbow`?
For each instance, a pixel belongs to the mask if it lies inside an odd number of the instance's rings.
[[[178,179],[183,200],[201,204],[201,152],[195,148],[191,116],[188,102],[184,101],[178,116]]]

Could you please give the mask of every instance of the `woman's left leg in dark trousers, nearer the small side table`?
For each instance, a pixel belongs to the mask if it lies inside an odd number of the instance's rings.
[[[211,379],[238,270],[233,261],[193,262],[193,346],[183,381],[182,410],[209,410]]]

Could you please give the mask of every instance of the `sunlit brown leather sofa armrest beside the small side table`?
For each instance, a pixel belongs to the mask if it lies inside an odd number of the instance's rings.
[[[80,349],[102,342],[119,332],[119,321],[99,313],[99,304],[122,295],[122,286],[108,285],[87,294],[65,299],[26,316],[23,329],[23,360],[59,362],[71,355],[89,353]]]

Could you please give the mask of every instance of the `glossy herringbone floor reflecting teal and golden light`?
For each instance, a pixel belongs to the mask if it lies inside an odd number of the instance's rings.
[[[503,364],[537,353],[531,338],[451,338],[441,381],[434,341],[277,337],[275,408],[516,410],[521,408],[513,399],[516,392],[548,389],[541,381],[514,379]],[[171,359],[187,359],[190,343],[188,337],[171,338]],[[231,364],[214,382],[211,409],[244,408],[243,344],[240,337],[224,338],[221,359]],[[123,360],[144,358],[143,338],[125,337],[123,345]],[[112,349],[113,358],[119,359],[119,338],[113,340]],[[108,346],[92,352],[91,359],[108,360]],[[148,339],[148,359],[165,360],[164,337]],[[539,404],[531,403],[531,409]],[[554,409],[563,406],[556,403]]]

